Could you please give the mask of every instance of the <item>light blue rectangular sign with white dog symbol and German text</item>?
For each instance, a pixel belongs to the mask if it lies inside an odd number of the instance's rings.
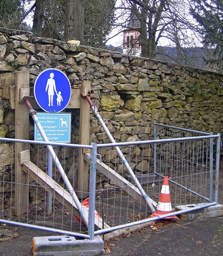
[[[38,120],[49,141],[70,143],[71,113],[36,113]],[[44,141],[36,124],[34,124],[34,140]]]

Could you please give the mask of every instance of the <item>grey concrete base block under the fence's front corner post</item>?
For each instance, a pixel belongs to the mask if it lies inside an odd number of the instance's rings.
[[[38,236],[32,239],[34,256],[95,256],[104,255],[104,242],[99,235],[94,240],[74,236]]]

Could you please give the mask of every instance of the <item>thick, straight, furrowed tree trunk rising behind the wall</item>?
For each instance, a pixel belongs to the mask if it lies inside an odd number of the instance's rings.
[[[79,40],[84,44],[85,0],[67,0],[64,41]]]

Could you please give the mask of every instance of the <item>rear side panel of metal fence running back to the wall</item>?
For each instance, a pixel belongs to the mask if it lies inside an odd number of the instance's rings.
[[[180,127],[174,127],[169,125],[163,125],[154,123],[154,139],[159,137],[162,138],[194,138],[198,137],[198,140],[183,140],[182,142],[178,142],[175,145],[169,144],[165,148],[165,146],[161,144],[155,144],[154,146],[154,173],[157,175],[172,175],[176,177],[180,177],[183,175],[190,176],[190,179],[194,178],[195,173],[202,173],[202,180],[200,182],[204,182],[204,179],[208,178],[209,187],[206,188],[207,194],[205,198],[208,199],[209,202],[213,202],[213,182],[218,182],[218,171],[219,171],[219,160],[220,160],[220,136],[218,133],[218,137],[216,137],[216,141],[214,143],[214,138],[210,138],[209,140],[199,140],[199,136],[212,136],[213,133],[194,131],[190,129],[184,129]],[[214,147],[214,145],[216,145]],[[173,147],[174,146],[174,147]],[[215,157],[216,161],[214,161],[214,148],[215,148]],[[167,158],[162,158],[162,154],[165,152]],[[156,161],[156,158],[159,158],[160,161]],[[162,159],[162,160],[161,160]],[[215,170],[214,170],[214,162],[215,162]],[[156,164],[155,164],[156,163]],[[175,171],[173,174],[172,171]],[[216,176],[215,176],[216,175]],[[215,176],[215,177],[214,177]],[[215,181],[214,181],[215,178]],[[190,181],[185,180],[187,184],[185,187],[187,191],[189,191]],[[194,182],[191,180],[191,183]],[[196,181],[198,183],[198,181]],[[174,182],[173,182],[174,183]],[[201,186],[200,186],[201,187]],[[217,202],[217,188],[215,188],[215,202]],[[199,192],[199,191],[197,191]],[[196,194],[196,192],[194,192]],[[201,196],[202,198],[202,196]]]

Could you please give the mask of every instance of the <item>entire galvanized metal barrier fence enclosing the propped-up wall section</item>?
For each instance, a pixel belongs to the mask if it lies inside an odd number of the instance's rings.
[[[33,144],[29,140],[0,138],[0,222],[93,239],[97,234],[217,204],[220,134],[160,124],[154,127],[154,140],[92,143],[91,146],[36,141]],[[28,180],[16,183],[14,148],[19,144],[23,152],[24,143],[28,145],[26,153],[29,154],[21,153],[21,172],[28,174]],[[70,181],[74,188],[77,149],[91,150],[83,157],[83,161],[90,164],[89,209],[81,205],[83,211],[79,214],[72,193],[81,195],[83,191],[69,191],[55,163],[52,164],[52,178],[46,174],[49,169],[47,145],[53,146],[64,176],[72,174]],[[121,158],[117,147],[123,154]],[[169,179],[174,210],[150,217],[159,204],[164,176]],[[27,211],[18,217],[14,214],[15,186],[28,187]],[[52,195],[50,205],[47,192]],[[83,199],[80,196],[80,202]],[[175,212],[180,205],[188,207]],[[75,217],[82,220],[85,213],[89,217],[87,227]]]

